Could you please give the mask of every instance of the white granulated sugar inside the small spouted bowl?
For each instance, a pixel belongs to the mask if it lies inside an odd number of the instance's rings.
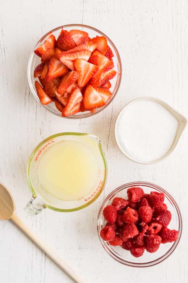
[[[135,100],[126,105],[118,116],[116,139],[129,158],[150,163],[169,151],[177,127],[177,119],[160,103]]]

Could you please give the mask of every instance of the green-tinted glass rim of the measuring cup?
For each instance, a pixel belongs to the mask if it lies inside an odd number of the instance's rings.
[[[55,135],[51,135],[49,137],[47,137],[46,139],[44,139],[43,141],[40,142],[40,144],[38,144],[38,146],[36,146],[36,148],[34,148],[34,150],[32,151],[30,157],[29,157],[29,162],[28,162],[28,166],[27,166],[27,172],[26,172],[26,175],[27,175],[27,183],[28,183],[28,186],[30,188],[30,191],[32,192],[32,196],[33,198],[36,198],[37,197],[37,194],[34,190],[34,188],[32,187],[32,184],[31,184],[31,180],[30,180],[30,174],[29,174],[29,171],[30,171],[30,165],[31,165],[31,162],[32,162],[32,159],[34,157],[34,155],[36,154],[37,150],[48,140],[52,139],[52,138],[55,138],[55,137],[59,137],[59,136],[63,136],[63,135],[91,135],[91,134],[88,134],[88,133],[76,133],[76,132],[64,132],[64,133],[57,133]],[[92,135],[92,136],[95,136],[95,135]],[[97,136],[95,136],[97,137]],[[97,137],[99,139],[99,137]],[[44,208],[50,208],[51,210],[55,210],[55,211],[58,211],[58,212],[73,212],[73,211],[77,211],[77,210],[81,210],[87,206],[89,206],[90,204],[92,204],[99,196],[100,194],[102,193],[102,191],[104,190],[104,187],[105,187],[105,184],[106,184],[106,181],[107,181],[107,172],[108,172],[108,168],[107,168],[107,162],[106,162],[106,158],[105,158],[105,155],[104,155],[104,152],[103,152],[103,149],[101,147],[101,142],[100,142],[100,139],[99,139],[99,151],[100,151],[100,154],[102,156],[102,159],[103,159],[103,163],[104,163],[104,168],[105,168],[105,176],[104,176],[104,179],[103,179],[103,183],[101,185],[101,189],[99,190],[99,192],[96,194],[96,196],[91,199],[89,202],[87,202],[86,204],[83,204],[82,206],[78,206],[76,208],[71,208],[71,209],[61,209],[61,208],[56,208],[56,207],[53,207],[53,206],[50,206],[48,204],[44,204]]]

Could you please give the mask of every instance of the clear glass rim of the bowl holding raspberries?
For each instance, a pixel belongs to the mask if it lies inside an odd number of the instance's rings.
[[[157,258],[156,260],[152,260],[150,262],[145,262],[145,263],[136,263],[136,262],[130,262],[130,261],[126,261],[123,260],[117,253],[112,252],[111,250],[109,250],[106,242],[101,238],[100,236],[100,225],[101,225],[101,220],[103,217],[103,209],[104,207],[107,205],[107,203],[109,202],[109,200],[111,200],[111,198],[113,198],[115,196],[115,194],[117,194],[118,192],[120,192],[121,190],[126,189],[127,187],[130,186],[146,186],[155,190],[158,190],[159,192],[163,192],[165,194],[165,197],[170,201],[171,204],[173,204],[176,212],[177,212],[177,216],[178,216],[178,231],[179,231],[179,237],[178,239],[173,242],[172,246],[169,248],[169,250],[162,256],[160,256],[159,258]],[[179,206],[177,205],[177,202],[174,200],[174,198],[163,188],[161,188],[160,186],[153,184],[153,183],[149,183],[149,182],[130,182],[127,184],[123,184],[122,186],[119,186],[118,188],[116,188],[115,190],[113,190],[104,200],[104,202],[101,205],[101,208],[99,210],[98,216],[97,216],[97,232],[98,232],[98,236],[99,236],[99,240],[103,246],[103,248],[105,249],[105,251],[117,262],[124,264],[126,266],[131,266],[131,267],[139,267],[139,268],[145,268],[145,267],[150,267],[150,266],[154,266],[156,264],[159,264],[160,262],[164,261],[166,258],[168,258],[172,252],[175,250],[175,248],[177,247],[179,240],[181,238],[181,234],[182,234],[182,216],[181,216],[181,212],[179,209]]]

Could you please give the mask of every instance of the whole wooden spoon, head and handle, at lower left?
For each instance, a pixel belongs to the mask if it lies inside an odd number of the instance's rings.
[[[47,254],[66,274],[75,282],[85,283],[75,271],[66,264],[66,262],[48,247],[40,238],[38,238],[22,220],[15,214],[15,204],[11,193],[0,183],[0,220],[11,220],[18,226],[45,254]]]

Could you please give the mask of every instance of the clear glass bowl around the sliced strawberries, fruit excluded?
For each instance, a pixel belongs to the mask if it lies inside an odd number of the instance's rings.
[[[83,31],[86,31],[89,33],[89,37],[96,37],[96,35],[99,36],[105,36],[108,42],[108,45],[110,46],[110,48],[112,49],[112,52],[114,54],[113,57],[113,61],[114,61],[114,69],[117,71],[117,75],[110,81],[112,86],[111,86],[111,92],[112,92],[112,96],[111,99],[107,102],[107,104],[105,104],[103,107],[97,108],[95,110],[95,112],[91,113],[90,111],[85,111],[83,112],[79,112],[75,115],[71,115],[68,117],[63,117],[63,118],[68,118],[68,119],[81,119],[81,118],[86,118],[86,117],[91,117],[99,112],[101,112],[103,109],[105,109],[114,99],[114,97],[116,96],[118,89],[120,87],[120,82],[121,82],[121,75],[122,75],[122,64],[121,64],[121,59],[120,59],[120,55],[117,51],[117,48],[115,47],[114,43],[111,41],[111,39],[109,39],[109,37],[107,35],[105,35],[103,32],[99,31],[98,29],[95,29],[94,27],[90,27],[88,25],[81,25],[81,24],[70,24],[70,25],[64,25],[64,26],[60,26],[60,27],[56,27],[55,29],[52,29],[51,31],[49,31],[48,33],[46,33],[44,36],[41,37],[41,39],[39,39],[39,41],[36,43],[33,51],[31,52],[29,61],[28,61],[28,68],[27,68],[27,76],[28,76],[28,83],[29,83],[29,87],[32,91],[32,94],[34,95],[34,97],[36,98],[36,100],[40,102],[38,95],[36,93],[35,87],[34,87],[34,82],[35,82],[35,78],[33,76],[34,73],[34,69],[35,67],[40,64],[40,58],[34,53],[34,50],[40,45],[42,44],[46,38],[53,33],[55,35],[55,37],[57,38],[62,27],[68,31],[70,31],[71,29],[81,29]],[[45,107],[48,111],[50,111],[51,113],[62,117],[61,116],[61,112],[57,110],[55,103],[49,103],[47,105],[43,105],[41,103],[41,105],[43,107]]]

